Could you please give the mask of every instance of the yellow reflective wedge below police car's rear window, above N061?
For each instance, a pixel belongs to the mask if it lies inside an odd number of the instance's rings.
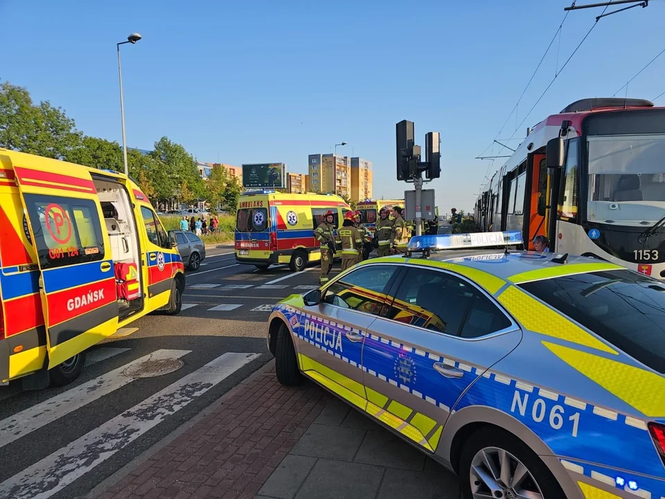
[[[648,417],[665,416],[665,378],[659,374],[558,344],[542,344],[569,366],[642,414]]]

